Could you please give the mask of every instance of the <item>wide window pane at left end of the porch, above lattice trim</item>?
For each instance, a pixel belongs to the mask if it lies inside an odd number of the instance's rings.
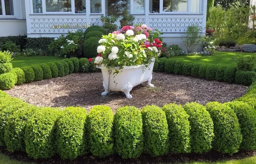
[[[71,12],[71,0],[45,0],[46,12]]]

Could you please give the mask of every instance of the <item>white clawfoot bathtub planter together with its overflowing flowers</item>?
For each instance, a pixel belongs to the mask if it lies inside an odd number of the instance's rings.
[[[98,56],[95,64],[101,69],[103,87],[101,95],[110,91],[122,91],[128,99],[133,87],[146,82],[150,87],[155,59],[161,54],[161,32],[147,27],[124,26],[120,31],[114,31],[102,36],[97,48]]]

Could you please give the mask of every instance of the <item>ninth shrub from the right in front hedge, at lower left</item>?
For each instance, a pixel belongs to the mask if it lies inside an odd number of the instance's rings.
[[[41,108],[27,121],[25,129],[26,152],[34,159],[50,158],[56,153],[57,108]]]

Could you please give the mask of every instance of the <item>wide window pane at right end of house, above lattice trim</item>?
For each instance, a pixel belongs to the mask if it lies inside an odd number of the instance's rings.
[[[187,12],[188,0],[163,0],[163,12]]]

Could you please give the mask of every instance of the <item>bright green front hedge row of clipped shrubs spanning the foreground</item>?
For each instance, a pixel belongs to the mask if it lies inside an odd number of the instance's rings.
[[[256,149],[256,110],[241,101],[196,102],[162,108],[132,106],[116,114],[108,106],[41,108],[0,91],[0,145],[30,157],[75,159],[86,153],[122,158],[214,149],[235,153]]]

